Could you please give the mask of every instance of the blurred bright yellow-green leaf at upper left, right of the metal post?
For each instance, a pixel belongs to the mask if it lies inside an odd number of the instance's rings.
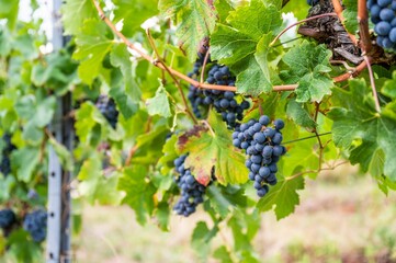
[[[78,76],[87,84],[99,76],[103,58],[112,48],[113,41],[106,37],[108,31],[102,21],[87,20],[76,36],[78,47],[72,58],[81,61]]]

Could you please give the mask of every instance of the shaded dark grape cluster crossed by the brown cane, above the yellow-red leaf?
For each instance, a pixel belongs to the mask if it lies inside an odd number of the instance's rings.
[[[236,78],[227,66],[214,64],[207,75],[206,82],[210,84],[235,87]],[[250,107],[248,101],[242,100],[238,103],[235,92],[231,91],[202,90],[192,85],[188,98],[196,117],[203,116],[201,110],[207,111],[213,105],[216,112],[222,114],[223,121],[229,128],[239,126],[238,121],[242,121],[244,111]]]

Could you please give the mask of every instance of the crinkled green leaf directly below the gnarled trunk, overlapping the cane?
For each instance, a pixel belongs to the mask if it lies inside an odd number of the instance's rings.
[[[297,102],[320,102],[331,93],[332,80],[328,75],[331,71],[330,57],[331,52],[325,45],[316,46],[307,41],[283,56],[282,60],[290,69],[282,71],[281,77],[286,83],[298,83],[295,90]]]

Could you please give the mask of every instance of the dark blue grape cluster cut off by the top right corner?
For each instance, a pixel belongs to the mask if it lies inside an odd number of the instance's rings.
[[[378,46],[396,52],[396,1],[369,0],[367,9],[371,21],[375,24],[376,43]]]

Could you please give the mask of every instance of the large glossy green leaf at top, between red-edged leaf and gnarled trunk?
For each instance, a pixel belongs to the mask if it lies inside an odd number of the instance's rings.
[[[279,9],[254,0],[229,12],[226,21],[211,36],[211,56],[237,75],[238,92],[257,96],[271,91],[267,57],[273,32],[282,25]]]

